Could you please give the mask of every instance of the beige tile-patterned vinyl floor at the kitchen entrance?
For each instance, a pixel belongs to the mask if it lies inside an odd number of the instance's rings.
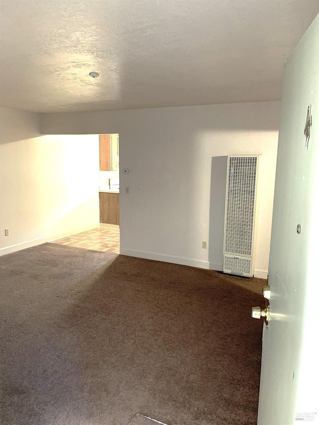
[[[96,229],[77,233],[67,238],[58,239],[52,243],[120,254],[120,229],[97,227]]]

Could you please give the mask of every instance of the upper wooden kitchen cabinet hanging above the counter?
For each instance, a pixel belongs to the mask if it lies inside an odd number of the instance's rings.
[[[119,135],[100,135],[100,171],[119,169]]]

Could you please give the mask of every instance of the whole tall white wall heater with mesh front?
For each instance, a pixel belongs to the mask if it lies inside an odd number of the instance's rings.
[[[254,274],[257,172],[259,156],[228,157],[223,271]]]

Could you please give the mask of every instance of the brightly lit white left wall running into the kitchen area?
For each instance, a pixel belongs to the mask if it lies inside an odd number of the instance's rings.
[[[98,136],[41,137],[38,118],[0,108],[0,255],[99,225]]]

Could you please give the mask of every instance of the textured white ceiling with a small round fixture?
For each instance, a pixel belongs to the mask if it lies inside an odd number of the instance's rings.
[[[1,106],[62,112],[278,100],[284,61],[319,0],[0,0],[0,7]]]

